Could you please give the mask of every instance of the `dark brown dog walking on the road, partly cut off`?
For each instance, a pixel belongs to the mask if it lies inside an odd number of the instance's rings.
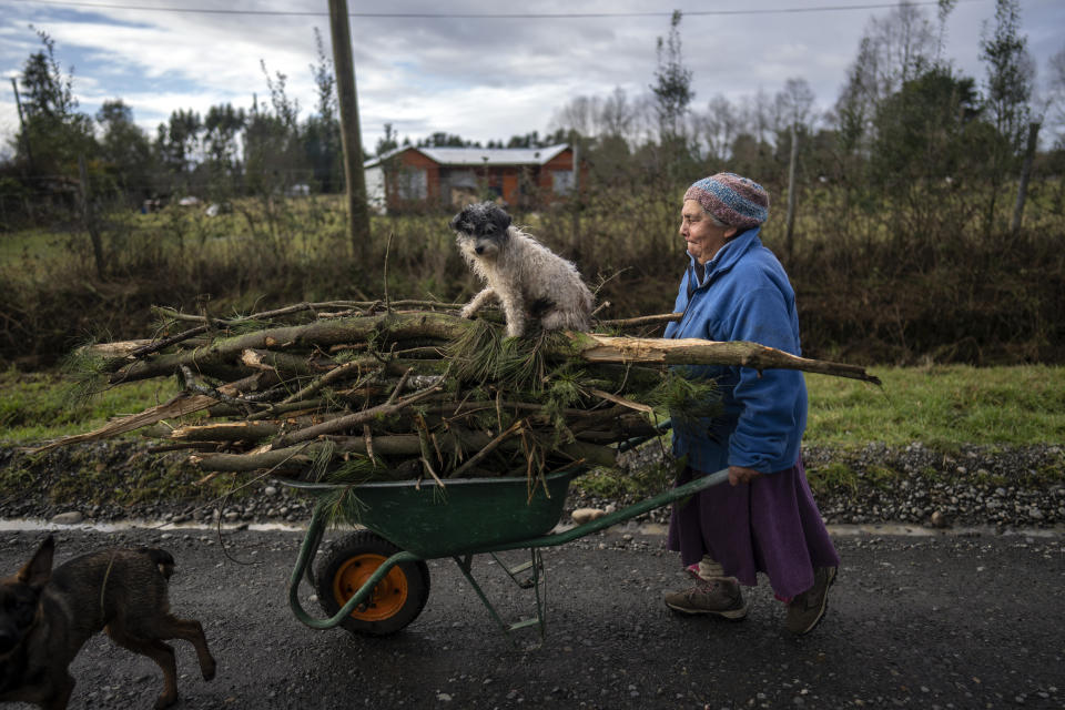
[[[178,700],[178,668],[164,639],[196,648],[203,678],[214,678],[214,658],[199,621],[170,613],[170,552],[151,547],[110,549],[77,557],[52,571],[52,536],[13,577],[0,580],[0,701],[67,707],[74,679],[67,668],[100,631],[163,669],[165,708]]]

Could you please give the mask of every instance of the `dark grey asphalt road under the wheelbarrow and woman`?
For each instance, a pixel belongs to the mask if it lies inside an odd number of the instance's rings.
[[[535,649],[535,631],[517,643],[498,631],[450,560],[429,562],[425,610],[383,639],[294,618],[294,532],[226,531],[234,561],[210,530],[71,529],[58,534],[58,560],[114,542],[174,554],[174,610],[203,622],[219,660],[204,682],[192,648],[174,642],[179,708],[1065,707],[1062,537],[836,537],[829,615],[797,639],[764,580],[744,621],[670,612],[661,595],[684,584],[678,558],[661,537],[621,532],[545,551],[549,618]],[[42,536],[0,532],[0,575]],[[474,571],[489,596],[527,612],[528,592],[487,561]],[[72,708],[150,708],[161,684],[151,661],[104,636],[72,672]]]

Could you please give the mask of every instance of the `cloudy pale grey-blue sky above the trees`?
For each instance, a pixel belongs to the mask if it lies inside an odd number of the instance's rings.
[[[935,17],[933,2],[916,4]],[[580,94],[620,87],[636,98],[653,81],[656,39],[667,36],[674,8],[684,12],[693,108],[719,93],[733,101],[759,90],[772,95],[799,77],[825,109],[871,18],[885,17],[891,6],[348,0],[364,146],[373,150],[385,123],[412,140],[444,131],[486,142],[544,133],[557,110]],[[958,0],[947,23],[947,55],[980,81],[978,40],[994,10],[994,0]],[[1021,10],[1028,51],[1045,74],[1048,58],[1065,49],[1065,0],[1021,0]],[[9,78],[41,48],[31,24],[54,39],[63,70],[73,68],[81,111],[95,114],[103,101],[121,98],[153,136],[176,109],[205,113],[213,104],[247,108],[253,94],[267,98],[261,60],[272,74],[288,77],[290,95],[304,112],[313,110],[314,28],[326,43],[329,38],[326,0],[0,0],[0,153],[10,154],[18,126]]]

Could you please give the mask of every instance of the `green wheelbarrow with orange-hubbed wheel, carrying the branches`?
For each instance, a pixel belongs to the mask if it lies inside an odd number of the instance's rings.
[[[414,621],[429,596],[428,559],[452,558],[505,633],[546,623],[546,588],[540,550],[576,540],[638,515],[686,498],[728,480],[728,470],[703,476],[601,518],[557,532],[569,484],[588,469],[575,466],[548,474],[534,490],[525,478],[447,480],[444,488],[413,480],[356,486],[361,503],[356,530],[334,542],[318,562],[311,562],[327,525],[323,506],[315,506],[288,582],[288,604],[296,618],[314,629],[337,626],[358,635],[386,636]],[[287,485],[326,493],[336,484]],[[496,557],[505,550],[528,549],[529,561],[508,567]],[[519,587],[532,589],[536,611],[506,622],[471,574],[477,555],[490,555]],[[520,576],[520,578],[519,578]],[[306,579],[328,615],[315,618],[300,601]]]

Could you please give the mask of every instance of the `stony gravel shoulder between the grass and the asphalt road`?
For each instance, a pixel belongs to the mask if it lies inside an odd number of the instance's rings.
[[[657,465],[661,448],[622,458],[623,471]],[[1065,528],[1065,449],[960,446],[951,453],[920,443],[860,449],[803,450],[818,505],[830,525],[903,524],[931,528]],[[30,457],[0,447],[0,519],[114,523],[302,524],[312,501],[276,480],[243,487],[229,479],[197,485],[203,474],[182,454],[149,454],[144,445],[97,442]],[[567,509],[620,507],[637,495],[596,495],[578,484]],[[665,523],[659,508],[637,521]]]

